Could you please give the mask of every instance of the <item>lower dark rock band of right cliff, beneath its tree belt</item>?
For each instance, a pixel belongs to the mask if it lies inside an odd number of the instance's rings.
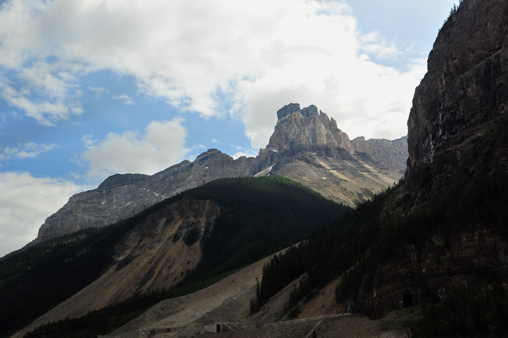
[[[453,286],[504,280],[508,275],[508,243],[504,230],[475,224],[455,232],[449,243],[443,236],[423,250],[404,248],[405,254],[379,265],[371,292],[363,293],[360,310],[379,318],[393,309],[413,306],[412,294],[438,301]],[[445,244],[446,243],[446,244]],[[420,305],[418,293],[416,306]]]

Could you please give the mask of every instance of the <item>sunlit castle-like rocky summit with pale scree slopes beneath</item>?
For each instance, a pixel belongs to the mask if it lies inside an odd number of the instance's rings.
[[[291,103],[279,109],[277,117],[275,130],[266,148],[260,149],[252,173],[264,174],[269,168],[270,174],[288,177],[350,206],[402,176],[407,159],[405,138],[351,141],[333,118],[313,105],[300,108]],[[398,143],[400,149],[394,145]],[[386,155],[399,151],[400,159]]]

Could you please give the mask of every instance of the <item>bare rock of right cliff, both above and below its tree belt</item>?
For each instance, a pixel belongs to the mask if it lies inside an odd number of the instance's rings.
[[[508,171],[508,3],[464,0],[443,25],[416,89],[408,125],[402,205],[426,201],[453,182]],[[505,224],[464,224],[433,243],[409,246],[378,265],[358,299],[374,317],[412,306],[411,288],[437,299],[454,285],[508,276]],[[488,274],[485,273],[488,271]]]

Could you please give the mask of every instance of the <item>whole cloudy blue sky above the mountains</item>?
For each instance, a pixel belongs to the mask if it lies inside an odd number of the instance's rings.
[[[0,256],[114,173],[256,156],[288,103],[407,134],[458,0],[0,0]]]

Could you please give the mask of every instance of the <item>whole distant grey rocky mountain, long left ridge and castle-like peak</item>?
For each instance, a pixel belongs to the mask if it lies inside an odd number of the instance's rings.
[[[393,184],[407,158],[406,138],[353,141],[315,106],[297,103],[277,111],[277,125],[256,158],[209,149],[154,175],[115,174],[97,189],[76,194],[39,229],[36,243],[88,227],[102,227],[179,192],[221,177],[244,177],[273,168],[322,195],[354,206]]]

